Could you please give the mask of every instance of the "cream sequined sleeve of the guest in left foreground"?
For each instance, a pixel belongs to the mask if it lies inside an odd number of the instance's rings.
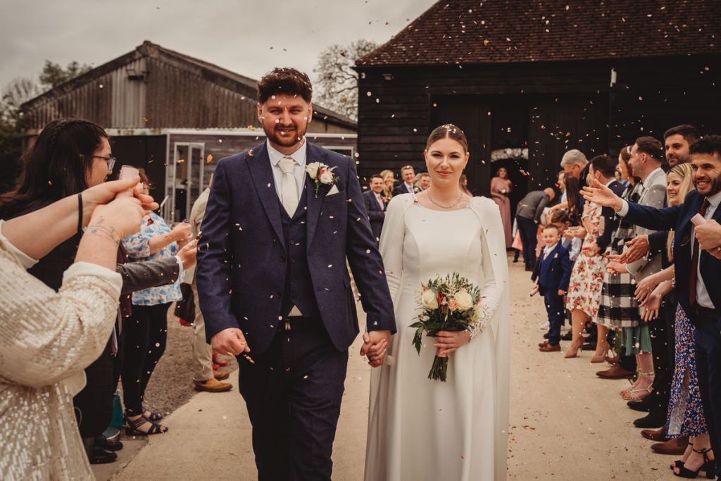
[[[112,270],[76,262],[56,292],[0,245],[0,379],[37,388],[89,366],[110,337],[121,282]]]

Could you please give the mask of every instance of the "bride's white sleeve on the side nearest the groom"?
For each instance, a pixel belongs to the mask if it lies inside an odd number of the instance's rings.
[[[400,291],[403,272],[404,212],[407,207],[405,197],[410,197],[410,194],[394,197],[388,204],[379,245],[386,270],[386,281],[391,291],[394,307],[398,304],[398,292]]]

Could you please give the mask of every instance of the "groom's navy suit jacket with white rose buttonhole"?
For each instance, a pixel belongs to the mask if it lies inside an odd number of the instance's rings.
[[[306,162],[335,167],[338,192],[306,174],[306,256],[323,325],[337,350],[358,335],[358,317],[346,267],[353,271],[368,330],[395,332],[394,311],[381,255],[347,156],[308,144]],[[301,206],[302,206],[301,202]],[[203,218],[196,277],[205,336],[239,327],[255,353],[267,350],[282,317],[288,255],[283,207],[275,190],[266,144],[218,162]],[[290,239],[291,243],[293,239]],[[307,314],[307,313],[304,313]]]

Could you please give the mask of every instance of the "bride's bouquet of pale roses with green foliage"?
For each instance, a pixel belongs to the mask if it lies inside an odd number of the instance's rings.
[[[481,292],[479,288],[469,283],[459,273],[452,273],[441,278],[437,275],[428,283],[421,284],[420,307],[423,313],[418,321],[410,327],[415,327],[413,345],[420,354],[423,333],[434,337],[439,331],[468,330],[480,319],[479,301]],[[433,366],[428,373],[428,379],[446,381],[448,372],[448,358],[435,356]]]

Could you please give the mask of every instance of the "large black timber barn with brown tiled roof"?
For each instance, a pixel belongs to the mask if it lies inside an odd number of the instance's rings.
[[[356,69],[363,175],[423,167],[428,133],[455,123],[469,187],[487,195],[508,167],[514,207],[568,149],[617,155],[681,123],[721,133],[715,0],[443,0]]]

